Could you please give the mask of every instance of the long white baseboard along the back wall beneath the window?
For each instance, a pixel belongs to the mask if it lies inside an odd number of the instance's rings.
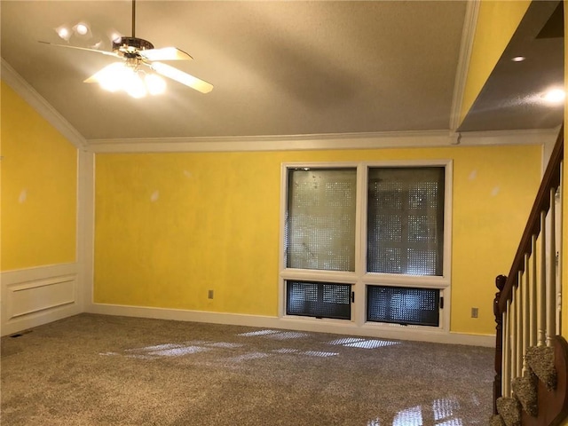
[[[337,335],[360,335],[394,340],[412,340],[430,343],[467,344],[470,346],[495,346],[494,335],[468,335],[439,330],[423,330],[420,327],[385,326],[379,324],[357,326],[339,320],[278,318],[237,313],[184,311],[177,309],[125,306],[117,304],[91,304],[86,312],[124,317],[173,319],[177,321],[207,322],[248,327],[279,328]]]

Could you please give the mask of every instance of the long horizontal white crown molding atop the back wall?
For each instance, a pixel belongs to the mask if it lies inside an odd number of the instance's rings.
[[[463,134],[448,130],[424,130],[224,138],[89,139],[88,150],[101,154],[540,145],[546,143],[549,138],[556,138],[556,134],[556,129],[499,130]]]

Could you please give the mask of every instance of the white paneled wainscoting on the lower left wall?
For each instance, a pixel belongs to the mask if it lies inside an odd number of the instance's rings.
[[[55,264],[2,272],[0,335],[76,315],[79,301],[76,264]]]

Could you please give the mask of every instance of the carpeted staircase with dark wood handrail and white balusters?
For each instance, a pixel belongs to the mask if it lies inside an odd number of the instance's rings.
[[[568,343],[560,336],[564,126],[509,275],[499,275],[491,426],[556,426],[568,417]]]

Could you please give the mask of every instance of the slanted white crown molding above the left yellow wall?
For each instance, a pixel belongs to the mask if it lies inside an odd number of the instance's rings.
[[[83,135],[79,133],[79,131],[77,131],[71,123],[67,122],[63,115],[59,114],[59,112],[51,106],[47,100],[43,99],[43,97],[33,87],[31,87],[28,82],[26,82],[26,80],[24,80],[23,77],[8,64],[8,62],[1,59],[0,64],[0,75],[5,83],[12,87],[12,89],[16,91],[22,99],[28,102],[28,104],[32,106],[38,114],[43,116],[43,118],[55,129],[59,130],[59,132],[67,138],[71,144],[77,148],[84,148],[87,146],[87,140],[83,138]]]

